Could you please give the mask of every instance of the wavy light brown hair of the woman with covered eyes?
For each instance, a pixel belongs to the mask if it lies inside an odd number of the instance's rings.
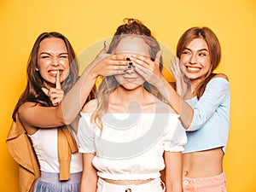
[[[108,54],[113,53],[113,50],[117,47],[121,39],[127,36],[136,35],[139,38],[143,38],[145,43],[148,44],[151,60],[154,61],[157,52],[160,50],[160,44],[154,38],[148,27],[144,26],[140,20],[136,19],[125,18],[124,22],[125,24],[119,26],[114,33],[111,44],[109,44]],[[160,57],[160,72],[162,72],[162,69],[163,63],[162,57]],[[103,113],[106,113],[108,111],[109,96],[118,86],[119,83],[114,76],[107,76],[102,79],[102,83],[99,85],[96,95],[97,108],[91,116],[92,125],[95,125],[102,129],[102,115]],[[148,84],[148,82],[145,82],[143,86],[146,90],[154,94],[154,96],[162,99],[159,91],[156,90],[156,88],[152,84]]]

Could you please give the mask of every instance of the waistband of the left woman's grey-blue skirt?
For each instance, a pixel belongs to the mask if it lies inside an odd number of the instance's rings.
[[[47,183],[80,183],[82,177],[82,172],[75,172],[70,174],[70,179],[67,181],[60,181],[59,172],[41,172],[41,177],[39,178],[42,182]]]

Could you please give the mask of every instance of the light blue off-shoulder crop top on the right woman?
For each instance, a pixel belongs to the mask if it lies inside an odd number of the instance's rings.
[[[187,101],[194,109],[191,125],[186,131],[188,143],[183,154],[222,148],[225,152],[230,129],[230,83],[213,78],[200,100],[195,96]]]

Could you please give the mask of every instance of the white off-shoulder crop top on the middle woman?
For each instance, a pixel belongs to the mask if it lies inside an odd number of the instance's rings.
[[[183,151],[187,137],[173,113],[105,113],[103,129],[92,128],[90,113],[79,120],[79,152],[95,153],[99,177],[146,180],[160,177],[163,152]]]

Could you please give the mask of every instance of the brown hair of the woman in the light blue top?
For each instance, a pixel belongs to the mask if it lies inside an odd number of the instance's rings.
[[[195,38],[203,38],[208,45],[211,67],[209,72],[206,74],[204,79],[201,81],[201,84],[195,89],[195,95],[200,98],[207,86],[207,83],[214,77],[214,69],[218,67],[220,58],[221,58],[221,48],[218,42],[218,38],[212,30],[206,26],[204,27],[192,27],[183,33],[181,38],[179,38],[177,43],[176,55],[180,58],[183,53],[183,50],[186,46]]]

